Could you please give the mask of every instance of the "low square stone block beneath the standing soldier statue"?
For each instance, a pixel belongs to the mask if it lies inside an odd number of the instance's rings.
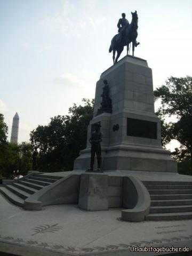
[[[86,211],[108,210],[108,175],[81,175],[78,206]]]

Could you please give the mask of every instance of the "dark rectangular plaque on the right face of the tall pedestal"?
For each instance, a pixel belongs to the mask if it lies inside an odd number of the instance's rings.
[[[157,123],[127,118],[127,136],[157,139]]]

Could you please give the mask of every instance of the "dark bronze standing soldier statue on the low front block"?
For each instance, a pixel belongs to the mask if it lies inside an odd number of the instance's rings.
[[[95,130],[91,133],[90,143],[91,143],[91,166],[90,169],[87,171],[93,171],[93,165],[94,165],[94,156],[95,153],[97,155],[97,161],[98,161],[98,172],[101,172],[101,144],[102,141],[102,133],[100,132],[101,125],[99,123],[94,124]]]

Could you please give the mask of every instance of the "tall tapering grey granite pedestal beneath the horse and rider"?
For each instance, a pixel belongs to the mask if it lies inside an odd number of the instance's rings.
[[[105,79],[113,112],[97,115]],[[146,60],[126,56],[101,74],[94,117],[87,129],[87,147],[75,160],[74,170],[90,166],[91,125],[97,122],[103,133],[103,170],[177,172],[177,163],[162,148],[161,121],[154,113],[152,70]]]

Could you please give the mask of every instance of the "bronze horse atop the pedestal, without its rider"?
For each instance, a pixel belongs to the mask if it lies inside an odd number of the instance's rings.
[[[131,12],[132,21],[130,25],[125,28],[124,36],[121,38],[120,34],[117,34],[111,40],[111,45],[109,47],[109,52],[113,51],[113,61],[114,64],[117,63],[119,56],[121,55],[124,46],[127,46],[127,55],[129,52],[129,44],[132,43],[132,55],[134,56],[134,47],[136,43],[136,38],[138,36],[138,15],[137,11]],[[115,52],[117,52],[117,56],[115,59]]]

